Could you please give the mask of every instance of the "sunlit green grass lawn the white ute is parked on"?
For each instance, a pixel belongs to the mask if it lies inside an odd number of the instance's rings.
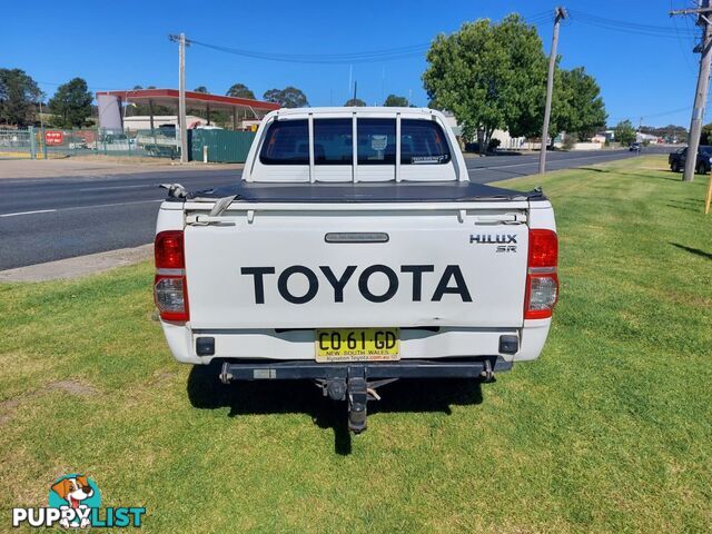
[[[148,263],[0,285],[0,531],[77,472],[102,505],[146,506],[147,532],[709,530],[712,216],[706,179],[664,167],[508,182],[556,210],[543,356],[495,384],[386,386],[353,438],[309,383],[176,364]]]

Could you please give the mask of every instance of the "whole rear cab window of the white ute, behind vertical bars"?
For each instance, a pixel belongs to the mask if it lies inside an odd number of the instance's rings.
[[[395,165],[395,119],[359,118],[356,122],[358,165]],[[352,119],[314,120],[314,164],[352,165]],[[441,165],[452,159],[442,128],[431,120],[400,121],[400,164]],[[306,119],[273,122],[259,160],[264,165],[309,165],[309,127]]]

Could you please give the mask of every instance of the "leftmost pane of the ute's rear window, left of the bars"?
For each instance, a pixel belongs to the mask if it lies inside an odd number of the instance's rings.
[[[307,121],[276,120],[269,125],[259,160],[264,165],[309,165]]]

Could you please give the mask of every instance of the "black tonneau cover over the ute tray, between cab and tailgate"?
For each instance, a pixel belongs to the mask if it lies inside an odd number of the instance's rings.
[[[452,182],[339,182],[268,184],[239,181],[233,186],[196,191],[187,199],[212,201],[235,196],[246,202],[456,202],[545,199],[540,189],[522,192],[500,187]],[[181,198],[169,200],[182,201]]]

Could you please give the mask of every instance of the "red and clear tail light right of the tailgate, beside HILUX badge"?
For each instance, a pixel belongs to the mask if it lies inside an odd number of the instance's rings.
[[[530,254],[524,297],[524,318],[552,316],[558,299],[558,237],[553,230],[530,230]]]

